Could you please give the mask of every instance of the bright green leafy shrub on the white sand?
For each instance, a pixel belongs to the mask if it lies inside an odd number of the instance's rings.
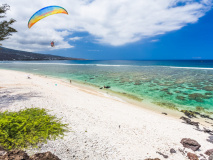
[[[5,149],[36,147],[48,139],[62,138],[65,131],[67,124],[48,115],[45,109],[0,113],[0,146]]]

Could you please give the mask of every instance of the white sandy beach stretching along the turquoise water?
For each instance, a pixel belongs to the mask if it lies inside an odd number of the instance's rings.
[[[197,155],[213,148],[207,141],[209,134],[175,117],[60,80],[32,74],[32,79],[27,79],[27,75],[0,70],[0,111],[33,106],[49,109],[72,130],[62,140],[28,150],[29,154],[51,151],[62,160],[164,159],[158,151],[168,155],[168,159],[181,160],[187,159],[178,151],[183,149],[182,138],[192,138],[201,144]],[[177,153],[171,155],[171,148]]]

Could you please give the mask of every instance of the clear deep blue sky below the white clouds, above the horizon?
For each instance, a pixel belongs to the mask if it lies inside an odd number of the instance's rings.
[[[213,10],[195,24],[124,46],[92,43],[87,33],[76,33],[75,36],[84,37],[85,40],[71,42],[75,44],[75,48],[52,50],[48,53],[98,60],[213,59]]]

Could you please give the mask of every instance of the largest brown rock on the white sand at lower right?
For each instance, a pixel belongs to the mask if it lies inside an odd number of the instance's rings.
[[[201,145],[193,139],[190,138],[183,138],[180,142],[185,148],[190,148],[193,151],[197,151]]]

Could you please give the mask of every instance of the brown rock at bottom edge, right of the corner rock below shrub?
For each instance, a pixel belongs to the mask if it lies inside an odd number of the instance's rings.
[[[30,157],[30,160],[60,160],[51,152],[37,153]]]

